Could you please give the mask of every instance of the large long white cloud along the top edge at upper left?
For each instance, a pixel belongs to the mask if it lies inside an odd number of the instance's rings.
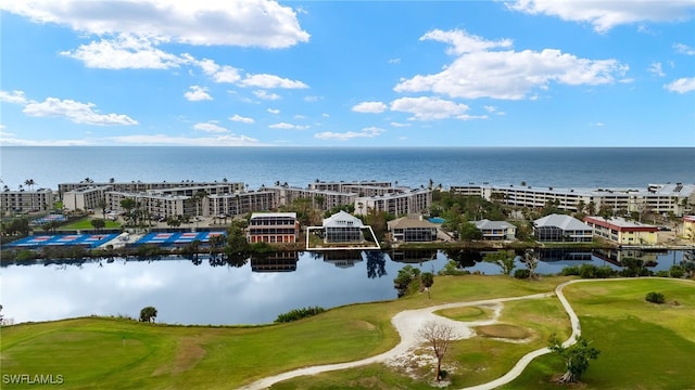
[[[34,0],[3,1],[0,9],[79,32],[195,46],[288,48],[309,39],[291,8],[266,0]]]

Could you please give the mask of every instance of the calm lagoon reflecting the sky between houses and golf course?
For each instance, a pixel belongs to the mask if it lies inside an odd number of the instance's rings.
[[[194,256],[21,261],[0,268],[3,313],[15,322],[81,315],[137,317],[146,306],[159,321],[180,324],[270,323],[304,307],[333,308],[395,299],[393,277],[406,264],[439,272],[453,260],[470,272],[498,274],[480,251],[278,252],[252,258]],[[688,251],[577,251],[543,249],[539,274],[593,263],[619,269],[627,257],[650,271],[695,261]],[[525,268],[517,259],[517,268]],[[201,304],[203,303],[204,304]]]

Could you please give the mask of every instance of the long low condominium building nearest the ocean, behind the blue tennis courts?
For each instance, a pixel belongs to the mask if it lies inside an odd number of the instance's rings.
[[[242,182],[108,182],[108,183],[94,183],[92,181],[81,181],[79,183],[61,183],[58,184],[58,192],[64,194],[68,191],[81,188],[81,187],[97,187],[109,185],[112,191],[117,192],[147,192],[153,190],[167,190],[167,188],[186,188],[186,187],[213,187],[213,188],[228,188],[223,193],[233,193],[244,191],[245,186]],[[204,188],[203,188],[204,190]],[[214,190],[214,193],[218,193],[220,190]],[[212,193],[211,191],[207,191]]]

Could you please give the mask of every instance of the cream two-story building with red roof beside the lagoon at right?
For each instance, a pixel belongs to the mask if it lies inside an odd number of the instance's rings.
[[[657,226],[628,221],[620,217],[585,217],[584,223],[594,230],[594,235],[621,245],[654,245],[657,243]]]

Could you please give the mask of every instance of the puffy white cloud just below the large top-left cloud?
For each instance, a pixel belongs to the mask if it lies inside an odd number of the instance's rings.
[[[151,39],[126,34],[80,44],[76,50],[61,52],[61,55],[79,60],[87,67],[101,69],[167,69],[178,67],[184,61],[156,49]]]

